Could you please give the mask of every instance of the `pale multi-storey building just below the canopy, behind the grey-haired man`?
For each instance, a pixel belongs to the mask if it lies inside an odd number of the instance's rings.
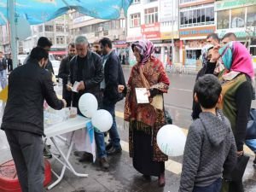
[[[123,13],[118,20],[95,19],[76,11],[70,13],[70,17],[72,21],[69,28],[73,40],[78,35],[84,35],[88,38],[89,44],[93,44],[103,37],[109,38],[113,42],[113,49],[121,57],[122,63],[128,64],[129,49],[126,43],[126,21]]]

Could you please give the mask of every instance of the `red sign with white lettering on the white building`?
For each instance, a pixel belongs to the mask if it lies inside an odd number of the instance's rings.
[[[142,25],[143,38],[160,38],[160,23]]]

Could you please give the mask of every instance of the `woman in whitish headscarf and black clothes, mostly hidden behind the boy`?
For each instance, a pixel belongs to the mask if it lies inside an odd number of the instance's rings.
[[[205,74],[208,73],[213,73],[214,68],[216,66],[216,63],[211,63],[211,57],[212,57],[212,48],[213,45],[212,44],[207,44],[205,45],[202,49],[201,49],[201,63],[202,63],[202,68],[201,70],[197,73],[196,75],[196,79],[199,79],[200,77],[202,77]],[[195,91],[193,91],[193,105],[192,105],[192,119],[198,119],[199,118],[199,114],[201,113],[201,107],[200,104],[198,102],[195,102]]]

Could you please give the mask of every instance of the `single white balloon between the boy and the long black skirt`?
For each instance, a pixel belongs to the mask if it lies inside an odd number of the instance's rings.
[[[186,136],[176,125],[164,125],[156,136],[160,150],[168,156],[180,156],[184,153]]]

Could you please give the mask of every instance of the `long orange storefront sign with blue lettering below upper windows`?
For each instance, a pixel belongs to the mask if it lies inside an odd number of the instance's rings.
[[[209,33],[215,32],[215,26],[202,26],[202,27],[193,27],[189,29],[180,29],[179,37],[180,38],[195,38],[207,36]]]

